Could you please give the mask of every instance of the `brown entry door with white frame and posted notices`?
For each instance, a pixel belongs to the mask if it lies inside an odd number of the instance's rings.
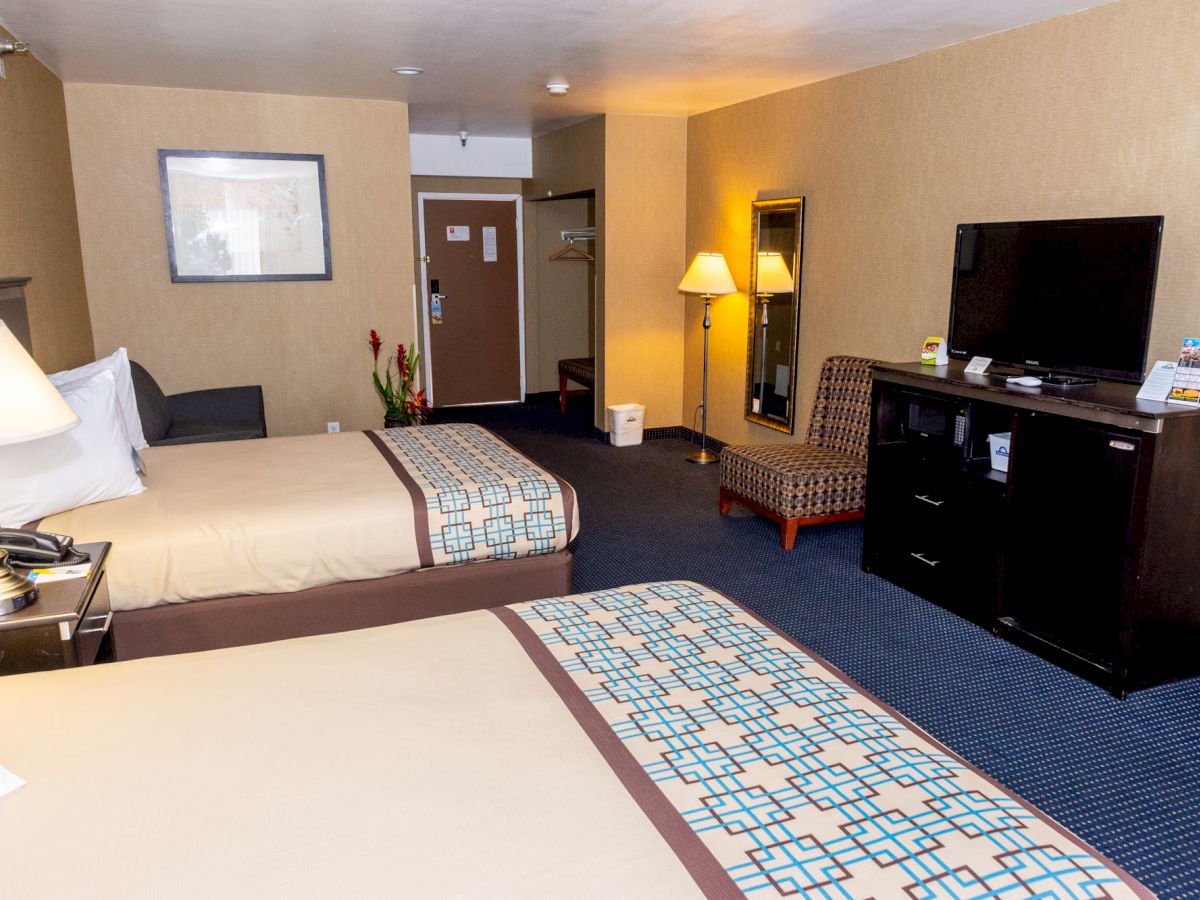
[[[517,202],[420,199],[433,406],[522,400]]]

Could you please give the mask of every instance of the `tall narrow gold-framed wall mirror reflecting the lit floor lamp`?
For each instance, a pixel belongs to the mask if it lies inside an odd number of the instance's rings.
[[[796,430],[804,198],[755,200],[750,223],[746,419]]]

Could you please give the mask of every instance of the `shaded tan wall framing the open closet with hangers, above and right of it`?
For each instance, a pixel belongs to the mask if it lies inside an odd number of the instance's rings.
[[[595,191],[596,240],[594,352],[596,358],[595,425],[604,427],[605,408],[605,116],[588,119],[533,139],[533,179],[526,182],[530,200],[577,191]],[[540,216],[541,203],[526,204]],[[536,220],[535,220],[536,221]],[[535,270],[536,271],[536,270]],[[540,293],[540,286],[539,286]],[[544,354],[539,353],[539,356]],[[557,364],[557,360],[556,360]]]

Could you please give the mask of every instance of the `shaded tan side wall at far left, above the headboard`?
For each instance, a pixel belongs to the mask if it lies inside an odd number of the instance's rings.
[[[34,358],[56,372],[92,359],[62,83],[32,55],[8,56],[5,66],[0,276],[32,278],[25,301]]]

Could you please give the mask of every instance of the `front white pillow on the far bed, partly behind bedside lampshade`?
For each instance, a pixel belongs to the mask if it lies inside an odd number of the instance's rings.
[[[142,493],[116,403],[116,379],[101,372],[60,388],[79,416],[61,434],[0,446],[0,524],[20,527],[89,503]]]

